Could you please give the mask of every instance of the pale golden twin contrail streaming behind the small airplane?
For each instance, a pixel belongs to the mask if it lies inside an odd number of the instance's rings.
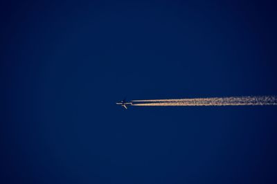
[[[132,100],[132,106],[245,106],[277,105],[277,96]]]

